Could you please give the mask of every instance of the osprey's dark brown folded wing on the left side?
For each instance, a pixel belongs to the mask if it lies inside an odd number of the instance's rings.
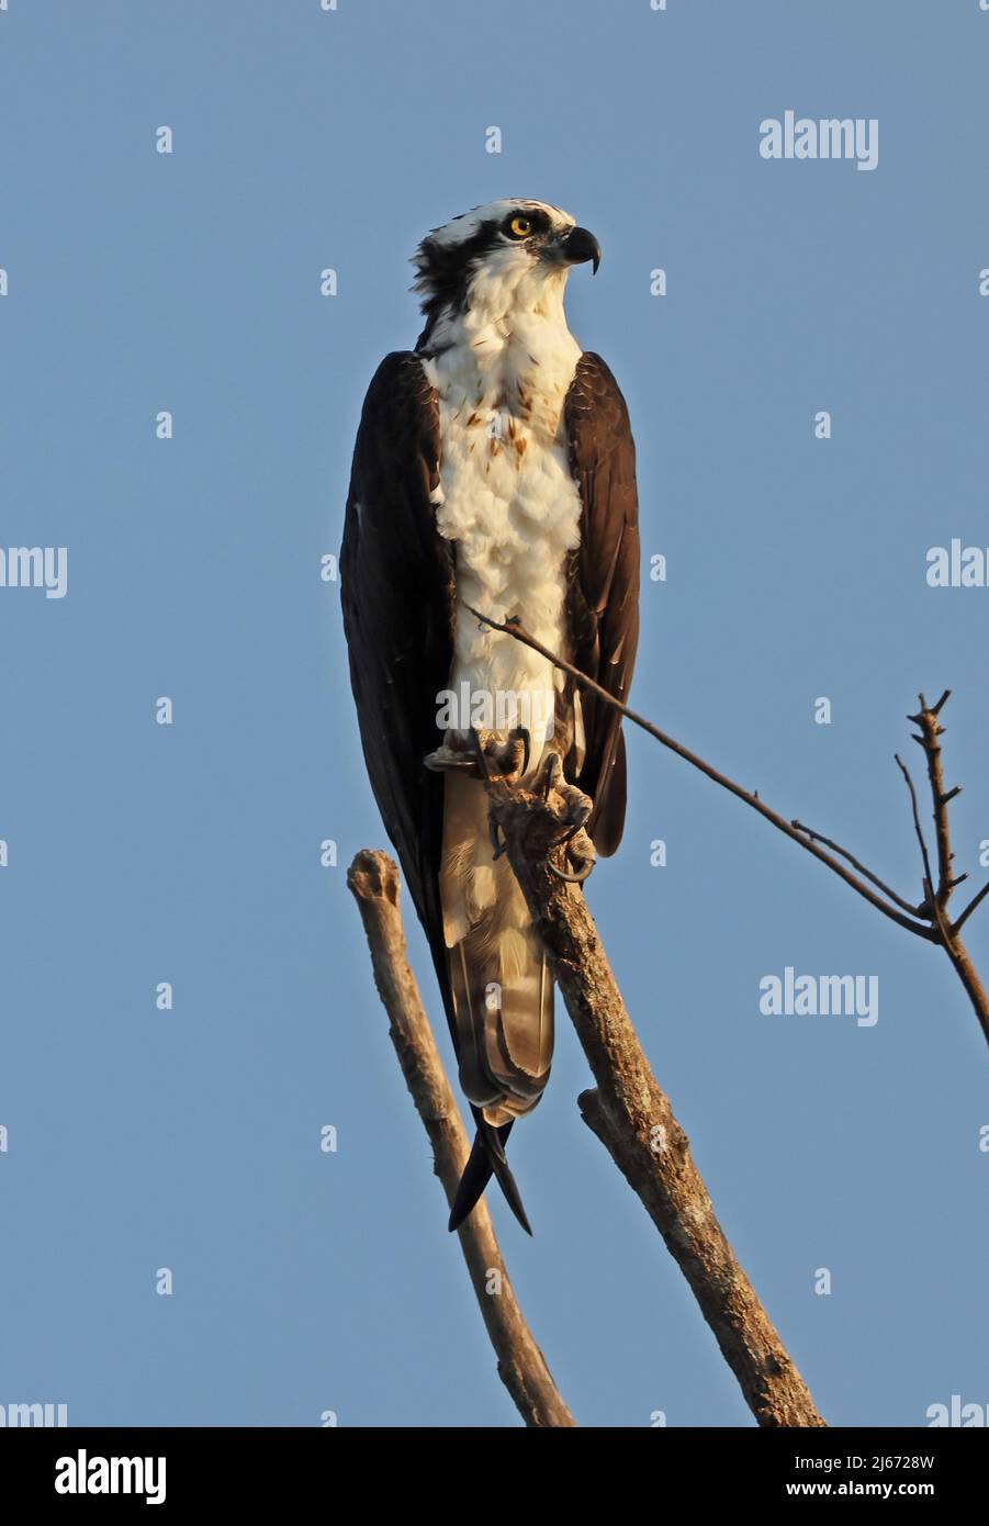
[[[365,398],[346,499],[340,584],[351,688],[371,789],[430,943],[447,1012],[440,908],[443,775],[437,696],[453,655],[453,557],[437,531],[437,395],[411,351],[386,356]]]

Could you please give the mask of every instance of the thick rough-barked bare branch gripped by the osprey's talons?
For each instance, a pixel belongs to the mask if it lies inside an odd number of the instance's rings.
[[[588,1126],[641,1198],[684,1273],[760,1425],[823,1425],[807,1387],[714,1216],[690,1141],[626,1012],[581,891],[549,871],[572,823],[572,786],[540,794],[490,781],[491,819],[552,963],[597,1090]]]

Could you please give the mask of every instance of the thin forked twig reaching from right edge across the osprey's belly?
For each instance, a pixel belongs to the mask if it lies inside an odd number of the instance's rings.
[[[986,989],[981,980],[978,978],[975,966],[972,964],[972,960],[965,945],[962,943],[962,938],[958,937],[968,919],[972,916],[972,913],[981,903],[986,894],[989,894],[989,884],[981,887],[981,890],[972,897],[972,900],[954,922],[948,919],[948,902],[951,900],[951,894],[955,890],[955,887],[960,885],[968,877],[966,874],[960,874],[957,879],[952,879],[951,874],[951,862],[954,855],[951,852],[951,838],[948,830],[948,806],[955,798],[955,795],[960,794],[962,786],[955,784],[954,789],[949,790],[945,789],[942,748],[939,742],[939,739],[945,734],[943,726],[939,722],[939,716],[945,703],[948,702],[951,690],[945,690],[945,693],[942,694],[942,697],[937,700],[936,705],[928,705],[923,694],[920,694],[919,713],[916,716],[907,717],[920,728],[920,736],[914,737],[914,742],[917,742],[923,748],[928,766],[928,781],[934,806],[934,830],[937,842],[937,885],[933,884],[926,844],[923,841],[923,832],[920,829],[920,816],[917,810],[917,797],[914,784],[913,780],[910,778],[908,769],[904,766],[899,757],[896,758],[910,787],[913,812],[914,812],[914,830],[920,842],[920,852],[923,861],[923,876],[922,876],[923,899],[920,900],[919,905],[913,906],[910,900],[907,900],[904,896],[899,896],[894,890],[891,890],[884,881],[879,879],[878,874],[865,868],[865,865],[861,864],[859,859],[855,858],[852,853],[849,853],[847,848],[842,848],[836,842],[832,842],[830,838],[823,836],[820,832],[813,832],[810,827],[806,827],[801,821],[788,821],[777,810],[772,810],[769,806],[766,806],[766,803],[760,800],[754,790],[748,790],[743,789],[740,784],[736,784],[733,778],[728,778],[726,774],[720,774],[710,763],[705,763],[705,760],[697,757],[696,752],[691,752],[690,748],[682,746],[682,743],[676,742],[665,731],[661,731],[659,726],[655,726],[650,720],[646,720],[644,716],[639,716],[633,710],[629,710],[627,705],[623,705],[621,700],[615,699],[614,694],[609,694],[606,688],[597,684],[592,678],[588,678],[586,673],[581,673],[580,668],[575,668],[571,662],[566,662],[563,658],[557,656],[556,652],[551,652],[533,635],[530,635],[530,632],[522,626],[519,620],[510,618],[501,623],[498,620],[488,618],[481,610],[473,609],[470,604],[467,604],[466,607],[470,609],[470,613],[476,615],[482,624],[490,626],[491,630],[502,630],[505,632],[505,635],[514,636],[516,641],[520,641],[523,645],[531,647],[534,652],[539,652],[543,658],[552,662],[554,667],[560,668],[563,673],[569,673],[571,678],[581,688],[586,688],[591,693],[597,694],[600,699],[604,700],[606,705],[610,705],[614,710],[618,710],[633,725],[641,726],[643,731],[649,732],[650,737],[655,737],[655,740],[659,742],[664,748],[668,748],[670,752],[676,752],[676,755],[684,758],[685,763],[690,763],[691,768],[696,768],[707,778],[713,780],[713,783],[719,784],[722,789],[726,789],[730,795],[736,795],[739,800],[745,801],[746,806],[751,806],[752,810],[757,810],[759,815],[763,816],[763,819],[769,821],[774,827],[777,827],[778,832],[788,836],[792,842],[797,842],[801,848],[806,848],[806,852],[810,853],[813,858],[820,859],[821,864],[826,864],[839,879],[846,882],[846,885],[850,885],[852,890],[856,891],[856,894],[859,894],[864,900],[867,900],[870,906],[875,906],[876,911],[881,911],[884,917],[888,917],[890,922],[896,922],[897,926],[905,928],[908,932],[913,932],[914,937],[923,938],[926,943],[934,943],[939,948],[942,948],[948,955],[952,969],[958,975],[958,980],[962,981],[962,986],[972,1004],[975,1016],[978,1018],[983,1036],[989,1042],[989,993],[986,993]],[[852,865],[852,868],[847,868],[846,865]],[[855,870],[856,873],[853,873],[852,870]]]

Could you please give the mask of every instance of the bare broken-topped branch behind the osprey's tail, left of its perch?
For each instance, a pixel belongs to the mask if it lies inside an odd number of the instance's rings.
[[[409,967],[398,909],[398,870],[386,853],[365,848],[354,858],[346,884],[368,935],[374,981],[391,1022],[391,1041],[432,1144],[433,1170],[443,1183],[447,1204],[452,1204],[469,1143]],[[536,1428],[575,1425],[511,1289],[484,1201],[461,1225],[459,1242],[498,1357],[498,1375],[522,1419]]]

